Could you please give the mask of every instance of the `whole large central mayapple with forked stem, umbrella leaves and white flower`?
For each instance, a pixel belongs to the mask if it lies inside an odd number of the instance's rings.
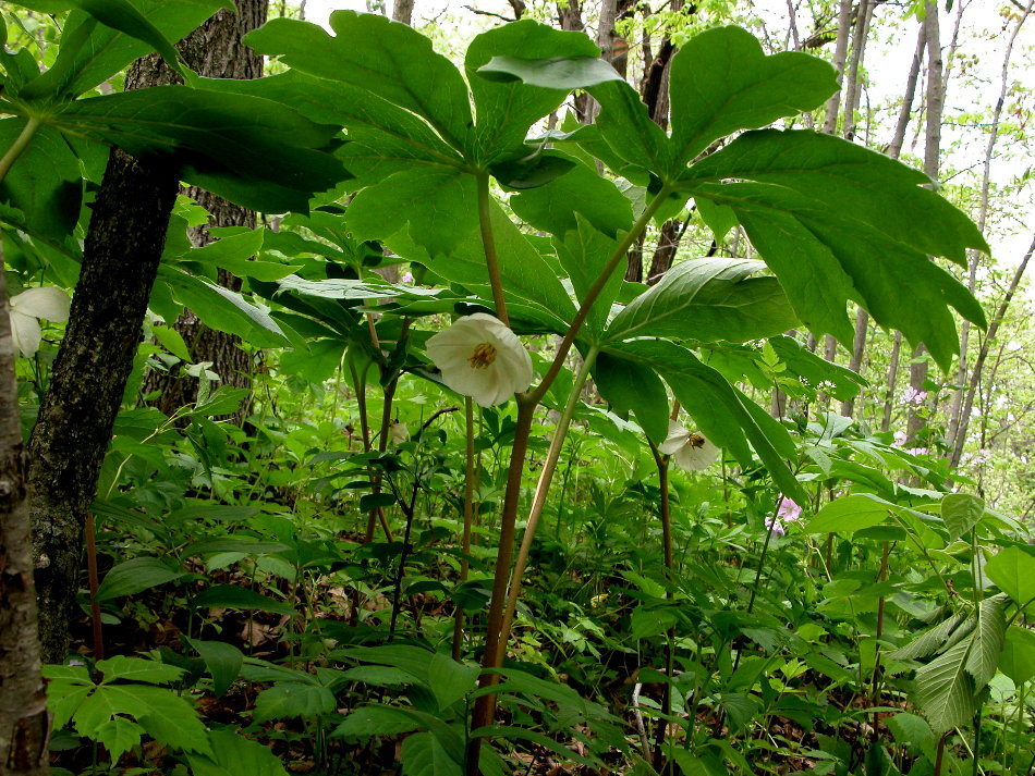
[[[590,373],[616,409],[635,415],[660,463],[667,461],[657,445],[669,436],[671,391],[702,438],[742,466],[757,456],[781,491],[804,503],[784,463],[794,457],[787,431],[694,347],[776,336],[796,325],[848,345],[851,300],[879,324],[926,345],[945,368],[957,349],[950,308],[979,325],[985,319],[932,257],[962,264],[969,247],[987,246],[922,173],[836,137],[766,128],[821,106],[838,88],[836,73],[807,54],[766,56],[742,29],[703,32],[673,58],[672,131],[666,133],[579,33],[532,21],[498,27],[475,38],[461,73],[422,35],[386,19],[339,11],[330,26],[332,34],[273,20],[247,42],[291,70],[218,88],[278,99],[316,122],[342,126],[348,143],[338,156],[354,175],[344,214],[353,237],[379,241],[453,284],[458,311],[495,312],[495,320],[479,313],[479,331],[463,319],[428,346],[447,385],[483,405],[514,391],[518,406],[484,691],[472,723],[477,730],[492,720],[490,688],[531,537]],[[573,89],[599,101],[597,123],[529,138]],[[608,174],[597,172],[598,162]],[[618,177],[637,187],[635,197],[619,189]],[[510,193],[514,214],[550,235],[548,246],[520,231],[494,196],[492,181]],[[690,199],[718,239],[743,227],[762,260],[701,258],[646,291],[623,283],[620,266],[634,241]],[[416,301],[404,293],[397,298]],[[405,307],[411,315],[413,306]],[[561,337],[539,382],[526,390],[524,359],[503,334],[508,329]],[[456,349],[443,357],[441,343]],[[515,559],[533,418],[573,347],[582,364]],[[510,381],[488,371],[501,348],[510,354]],[[465,757],[471,774],[479,769],[482,740],[473,736]]]

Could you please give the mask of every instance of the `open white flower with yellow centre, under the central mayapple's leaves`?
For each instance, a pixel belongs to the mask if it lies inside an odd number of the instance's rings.
[[[427,342],[442,382],[483,407],[495,407],[532,384],[532,357],[518,335],[484,312],[459,319]]]

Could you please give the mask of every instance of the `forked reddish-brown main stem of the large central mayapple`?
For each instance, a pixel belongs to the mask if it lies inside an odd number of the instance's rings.
[[[503,650],[506,649],[506,640],[501,638],[503,611],[506,607],[508,589],[510,587],[509,582],[511,563],[513,562],[514,557],[514,535],[516,533],[515,524],[518,521],[518,502],[521,497],[521,478],[524,471],[525,455],[528,452],[528,436],[532,432],[532,420],[535,416],[535,409],[539,405],[539,402],[543,401],[543,397],[553,383],[553,380],[556,380],[557,375],[560,374],[561,369],[564,366],[564,359],[568,357],[572,345],[575,343],[575,336],[577,336],[579,331],[582,329],[582,324],[589,315],[589,310],[593,309],[593,305],[596,303],[597,298],[600,296],[600,293],[604,291],[604,287],[614,273],[619,262],[625,257],[625,254],[629,251],[629,248],[635,241],[636,236],[647,227],[648,223],[650,223],[650,219],[654,218],[654,214],[658,211],[658,208],[661,207],[661,204],[669,196],[669,194],[671,194],[671,192],[672,189],[668,185],[662,186],[661,190],[659,190],[655,198],[650,200],[650,204],[644,208],[643,213],[641,213],[640,218],[636,219],[636,222],[633,224],[632,229],[625,233],[621,241],[619,241],[618,245],[614,247],[614,250],[611,252],[611,256],[608,258],[607,263],[604,266],[604,269],[593,282],[593,285],[589,286],[588,291],[586,291],[582,305],[579,307],[577,312],[575,312],[575,316],[568,328],[568,333],[564,334],[564,338],[558,346],[557,355],[553,357],[553,362],[547,370],[543,381],[533,391],[524,394],[518,394],[516,396],[518,420],[514,428],[514,443],[511,447],[510,468],[507,472],[507,490],[503,495],[503,510],[500,516],[499,551],[496,556],[496,572],[492,579],[492,598],[489,601],[488,623],[485,633],[485,653],[482,657],[483,673],[478,682],[479,687],[490,687],[499,681],[499,675],[495,669],[500,667],[500,663],[497,663],[497,655],[502,656]],[[489,222],[487,175],[478,176],[478,211],[489,279],[490,282],[494,282],[494,298],[497,303],[497,310],[502,309],[506,315],[506,307],[503,306],[502,298],[502,281],[499,276],[499,262],[497,261],[496,245],[492,239],[491,223]],[[496,281],[492,281],[494,273]],[[500,318],[500,320],[502,320],[504,323],[507,322],[503,318]],[[495,693],[479,695],[475,701],[474,712],[471,718],[472,730],[476,730],[479,727],[489,725],[492,722],[495,714]],[[485,737],[483,736],[472,737],[468,740],[465,764],[467,776],[479,776],[480,774],[482,768],[479,766],[479,756],[482,752],[482,741],[484,740]]]

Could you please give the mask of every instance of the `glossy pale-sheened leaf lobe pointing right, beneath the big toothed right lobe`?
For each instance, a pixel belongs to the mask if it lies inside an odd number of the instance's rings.
[[[608,325],[608,342],[660,336],[697,342],[759,340],[793,329],[797,320],[774,278],[750,259],[704,258],[677,264]]]

